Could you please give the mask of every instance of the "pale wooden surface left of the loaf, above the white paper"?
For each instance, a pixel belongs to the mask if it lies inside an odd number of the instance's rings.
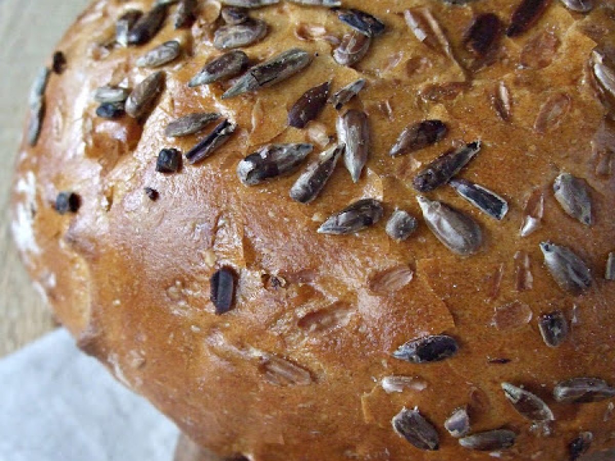
[[[89,0],[0,0],[0,357],[54,328],[12,243],[10,183],[36,70]]]

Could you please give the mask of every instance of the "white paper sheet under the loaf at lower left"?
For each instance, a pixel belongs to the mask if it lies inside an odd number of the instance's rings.
[[[65,329],[0,360],[0,461],[171,461],[177,436]]]

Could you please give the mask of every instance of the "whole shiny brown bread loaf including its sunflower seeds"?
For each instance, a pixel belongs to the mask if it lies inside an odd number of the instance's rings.
[[[223,457],[613,446],[613,2],[159,3],[29,101],[15,240],[85,352]]]

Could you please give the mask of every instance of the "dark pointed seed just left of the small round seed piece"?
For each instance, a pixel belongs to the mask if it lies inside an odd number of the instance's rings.
[[[319,234],[355,234],[378,223],[384,215],[383,205],[376,199],[361,199],[330,216],[318,228]]]

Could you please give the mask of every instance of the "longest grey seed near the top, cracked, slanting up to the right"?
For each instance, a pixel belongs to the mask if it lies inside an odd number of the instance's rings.
[[[275,85],[306,68],[311,62],[312,56],[308,52],[298,48],[287,50],[263,64],[248,69],[247,73],[222,95],[222,98],[232,98]]]

